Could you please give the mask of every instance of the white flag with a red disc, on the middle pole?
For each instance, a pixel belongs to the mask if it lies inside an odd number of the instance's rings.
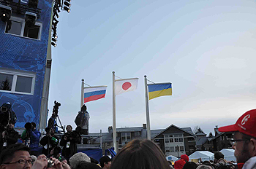
[[[121,93],[126,93],[132,90],[136,90],[138,85],[138,79],[139,78],[115,80],[116,95],[120,95]]]

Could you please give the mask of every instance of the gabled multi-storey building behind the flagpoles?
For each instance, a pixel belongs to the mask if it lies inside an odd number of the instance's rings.
[[[146,138],[146,124],[141,127],[123,127],[116,128],[116,141],[118,150],[124,147],[129,141],[135,138]],[[99,135],[99,133],[90,133],[90,135]],[[108,133],[102,135],[102,150],[113,147],[113,129],[108,127]],[[165,156],[180,156],[181,154],[192,154],[195,152],[195,135],[190,127],[180,128],[170,125],[166,129],[151,130],[151,139],[164,152]],[[100,138],[91,141],[91,144],[99,144]]]

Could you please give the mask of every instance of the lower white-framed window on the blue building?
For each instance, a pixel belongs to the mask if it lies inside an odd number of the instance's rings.
[[[34,94],[36,75],[23,71],[0,69],[1,92]]]

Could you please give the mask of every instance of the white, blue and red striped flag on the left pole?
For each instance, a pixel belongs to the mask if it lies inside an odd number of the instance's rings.
[[[105,98],[106,90],[107,86],[84,87],[84,103],[89,101],[97,101],[100,98]]]

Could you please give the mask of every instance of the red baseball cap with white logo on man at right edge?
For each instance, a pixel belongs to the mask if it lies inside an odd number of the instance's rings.
[[[220,132],[239,131],[256,138],[256,109],[249,110],[234,125],[219,127]]]

